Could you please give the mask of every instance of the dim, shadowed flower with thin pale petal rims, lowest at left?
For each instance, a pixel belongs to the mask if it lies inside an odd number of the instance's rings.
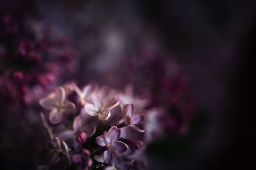
[[[61,145],[63,145],[64,149],[61,148]],[[45,146],[47,150],[52,153],[51,163],[57,163],[61,159],[60,154],[69,158],[67,144],[65,141],[61,141],[58,137],[55,138],[54,142],[47,141]]]

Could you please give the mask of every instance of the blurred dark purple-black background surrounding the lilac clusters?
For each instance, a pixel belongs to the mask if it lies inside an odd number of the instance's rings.
[[[66,70],[57,85],[75,79],[124,89],[132,72],[127,61],[144,47],[182,68],[197,111],[186,134],[170,134],[148,147],[148,170],[256,168],[254,0],[1,0],[1,18],[6,14],[38,37],[47,25],[49,36],[79,51],[77,63],[61,65]],[[30,35],[24,30],[20,37]],[[0,35],[1,57],[8,37]],[[31,135],[29,122],[39,114],[31,118],[7,98],[0,98],[0,169],[35,169],[43,136]]]

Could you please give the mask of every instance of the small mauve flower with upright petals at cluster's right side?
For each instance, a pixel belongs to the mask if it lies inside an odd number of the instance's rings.
[[[137,125],[143,124],[145,116],[142,114],[133,115],[133,104],[129,104],[126,108],[126,122],[128,126],[138,132],[145,132],[145,130]]]

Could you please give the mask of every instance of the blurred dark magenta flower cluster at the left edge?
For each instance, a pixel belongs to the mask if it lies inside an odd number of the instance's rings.
[[[73,69],[78,56],[64,38],[52,38],[49,31],[38,33],[36,24],[8,13],[0,15],[0,94],[12,102],[25,102],[29,88],[52,85],[63,68]]]

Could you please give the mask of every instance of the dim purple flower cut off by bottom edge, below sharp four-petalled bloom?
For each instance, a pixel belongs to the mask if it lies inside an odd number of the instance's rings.
[[[106,167],[104,170],[134,170],[132,168],[134,159],[124,161],[123,158],[115,157],[111,166]]]

